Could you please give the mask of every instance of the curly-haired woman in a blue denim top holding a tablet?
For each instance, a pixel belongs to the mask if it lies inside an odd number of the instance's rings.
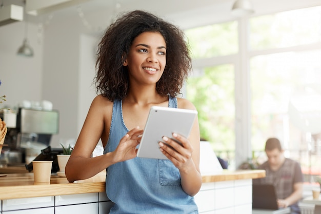
[[[101,94],[90,106],[65,171],[73,182],[107,169],[106,193],[115,203],[110,213],[198,213],[197,120],[188,138],[173,133],[163,138],[169,146],[159,142],[169,160],[136,157],[139,127],[151,106],[195,109],[176,98],[190,63],[184,33],[145,11],[119,17],[99,43],[95,84]],[[90,158],[99,139],[104,154]]]

